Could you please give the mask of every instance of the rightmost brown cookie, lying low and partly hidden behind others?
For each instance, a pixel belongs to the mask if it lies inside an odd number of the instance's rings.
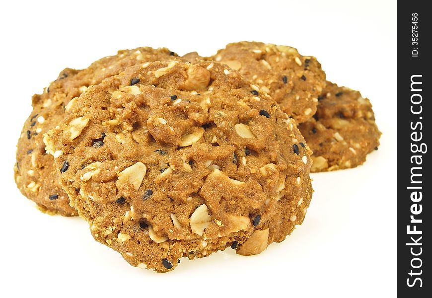
[[[356,167],[378,149],[381,136],[369,99],[328,82],[314,118],[299,125],[313,151],[312,172]]]

